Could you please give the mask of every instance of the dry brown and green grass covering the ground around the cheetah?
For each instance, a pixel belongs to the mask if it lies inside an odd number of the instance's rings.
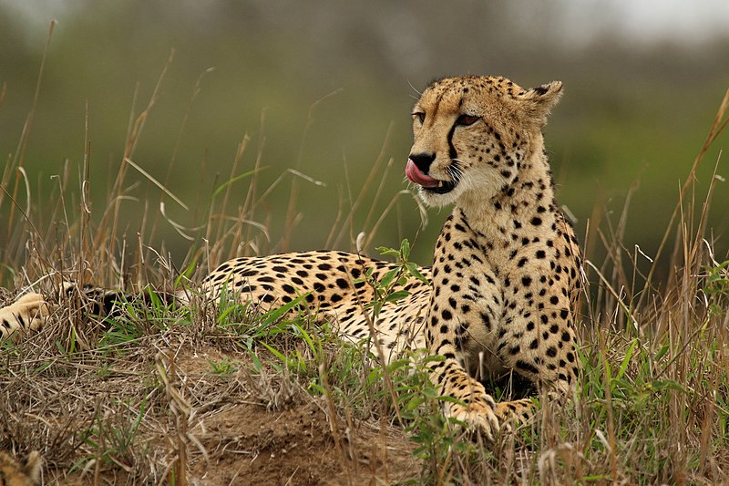
[[[163,208],[145,204],[137,239],[119,239],[127,172],[139,170],[135,147],[156,93],[141,112],[132,110],[116,182],[104,211],[93,217],[86,211],[93,182],[88,151],[77,181],[82,191],[73,190],[67,164],[53,194],[31,198],[23,171],[31,111],[2,174],[3,281],[17,290],[34,284],[50,291],[61,278],[130,291],[147,284],[169,289],[186,279],[194,284],[234,254],[290,241],[293,233],[282,242],[267,239],[265,200],[272,188],[257,178],[262,152],[252,168],[239,163],[247,137],[228,181],[196,210],[204,215],[200,228],[178,225],[194,240],[181,268],[148,245]],[[647,272],[648,257],[622,239],[628,203],[617,222],[606,216],[590,227],[588,246],[604,246],[608,257],[585,265],[591,284],[575,400],[563,410],[543,404],[537,423],[493,450],[439,415],[417,357],[385,369],[309,316],[282,320],[204,299],[181,309],[130,304],[126,316],[106,323],[69,302],[43,333],[3,344],[0,449],[42,451],[48,483],[723,481],[729,474],[729,264],[712,250],[707,213],[714,183],[705,201],[696,202],[693,173],[726,127],[727,103],[729,92]],[[351,209],[342,205],[330,243],[354,245],[359,231],[352,215],[363,211],[365,194],[375,193],[372,208],[394,207],[380,202],[375,187],[375,175],[391,165],[384,157],[375,162]],[[273,186],[301,176],[283,174]],[[245,197],[235,195],[243,184]],[[159,187],[174,201],[174,191]],[[381,219],[368,211],[364,230],[372,242]],[[288,228],[297,213],[294,196]],[[659,268],[669,269],[667,278],[656,276]]]

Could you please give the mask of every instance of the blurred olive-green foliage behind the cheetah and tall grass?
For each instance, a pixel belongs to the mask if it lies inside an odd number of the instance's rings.
[[[166,202],[169,216],[189,226],[204,219],[210,193],[231,178],[236,148],[247,134],[251,143],[237,173],[251,170],[261,156],[263,186],[288,168],[325,184],[300,182],[297,208],[303,219],[285,248],[280,237],[291,182],[272,192],[266,201],[272,222],[266,251],[323,246],[338,201],[343,199],[345,208],[351,204],[349,194],[360,190],[381,151],[385,160],[394,160],[381,208],[375,208],[384,210],[406,187],[408,113],[416,90],[432,78],[474,73],[507,76],[523,86],[564,82],[565,97],[547,129],[560,202],[576,216],[584,235],[593,214],[619,214],[638,181],[625,241],[651,255],[673,211],[679,181],[729,86],[729,36],[701,45],[680,40],[636,45],[597,32],[577,42],[560,23],[556,3],[535,12],[506,2],[463,2],[454,8],[385,0],[58,5],[46,2],[23,18],[27,9],[0,4],[0,83],[5,87],[0,153],[5,162],[15,155],[32,106],[47,26],[58,18],[22,160],[33,197],[44,200],[42,194],[57,186],[50,176],[60,173],[66,160],[79,179],[87,113],[92,221],[99,220],[104,211],[99,206],[118,172],[130,113],[133,107],[136,114],[144,108],[174,50],[134,161],[197,210],[182,210],[131,173],[127,194],[132,199],[124,206],[129,226],[121,231],[137,231],[145,202]],[[728,143],[724,133],[706,158],[718,160],[721,175],[726,162],[719,152]],[[699,191],[705,191],[713,171],[710,164],[700,168]],[[241,199],[246,183],[237,182]],[[715,198],[710,222],[717,248],[724,252],[725,184]],[[74,210],[78,199],[68,204]],[[354,234],[369,204],[364,208],[355,215]],[[8,211],[5,205],[0,212],[0,235],[10,232]],[[429,263],[446,215],[430,212],[414,246],[416,262]],[[42,220],[42,214],[36,216]],[[412,240],[419,224],[416,203],[402,198],[375,246]],[[190,244],[166,222],[151,238],[178,258]],[[337,246],[350,250],[353,243]]]

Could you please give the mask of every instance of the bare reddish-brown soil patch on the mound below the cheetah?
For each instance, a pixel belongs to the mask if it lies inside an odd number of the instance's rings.
[[[315,402],[279,412],[229,408],[210,419],[207,429],[204,445],[219,453],[193,468],[203,484],[390,483],[417,472],[412,442],[402,432],[340,426],[337,444]]]

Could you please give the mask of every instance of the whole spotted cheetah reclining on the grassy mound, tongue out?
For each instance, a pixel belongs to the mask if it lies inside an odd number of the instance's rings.
[[[565,398],[580,369],[576,318],[580,247],[554,198],[542,128],[559,101],[559,81],[523,89],[507,78],[465,76],[429,84],[412,112],[406,177],[427,205],[453,204],[426,282],[407,279],[406,298],[386,303],[370,336],[364,279],[395,264],[356,253],[318,251],[237,258],[200,284],[266,308],[301,298],[343,339],[372,337],[385,360],[426,348],[445,413],[489,440],[529,419],[530,398],[497,402],[484,382],[520,377]],[[103,293],[102,293],[103,294]],[[108,295],[103,294],[106,302]],[[184,301],[184,295],[180,295]],[[31,294],[0,310],[3,337],[42,326],[50,301]]]

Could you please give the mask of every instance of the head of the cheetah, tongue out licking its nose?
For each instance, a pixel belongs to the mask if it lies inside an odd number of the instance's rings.
[[[506,78],[467,76],[431,83],[413,109],[406,176],[430,206],[464,196],[493,198],[542,150],[541,128],[562,83],[523,89]]]

